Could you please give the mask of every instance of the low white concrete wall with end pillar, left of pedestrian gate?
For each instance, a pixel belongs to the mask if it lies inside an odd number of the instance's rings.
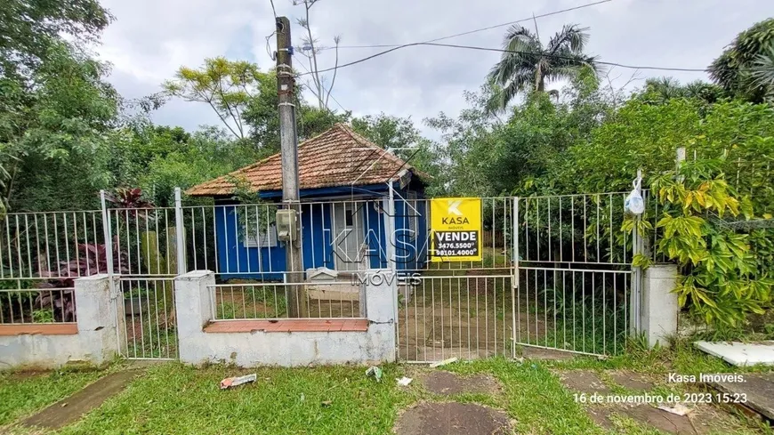
[[[0,336],[0,368],[55,368],[70,362],[96,366],[118,352],[115,304],[107,275],[75,280],[77,334]],[[46,326],[41,326],[45,330]]]

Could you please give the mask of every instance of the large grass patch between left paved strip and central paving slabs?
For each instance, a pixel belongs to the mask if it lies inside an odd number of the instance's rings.
[[[151,367],[123,394],[61,433],[383,434],[391,431],[399,408],[414,400],[395,387],[399,366],[384,367],[383,383],[367,378],[363,367],[258,368],[256,383],[219,389],[222,378],[251,371]]]

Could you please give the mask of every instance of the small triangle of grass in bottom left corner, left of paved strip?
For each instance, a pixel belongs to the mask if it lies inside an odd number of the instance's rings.
[[[0,372],[0,426],[68,397],[86,384],[93,383],[101,375],[103,372],[96,370],[51,373]]]

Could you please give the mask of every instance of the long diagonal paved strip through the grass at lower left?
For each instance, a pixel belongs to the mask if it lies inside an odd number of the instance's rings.
[[[52,430],[63,428],[89,411],[100,407],[105,400],[123,391],[126,385],[138,375],[141,375],[141,371],[126,370],[107,375],[99,381],[87,385],[83,390],[77,391],[69,398],[61,399],[36,415],[28,417],[22,423],[27,426]]]

